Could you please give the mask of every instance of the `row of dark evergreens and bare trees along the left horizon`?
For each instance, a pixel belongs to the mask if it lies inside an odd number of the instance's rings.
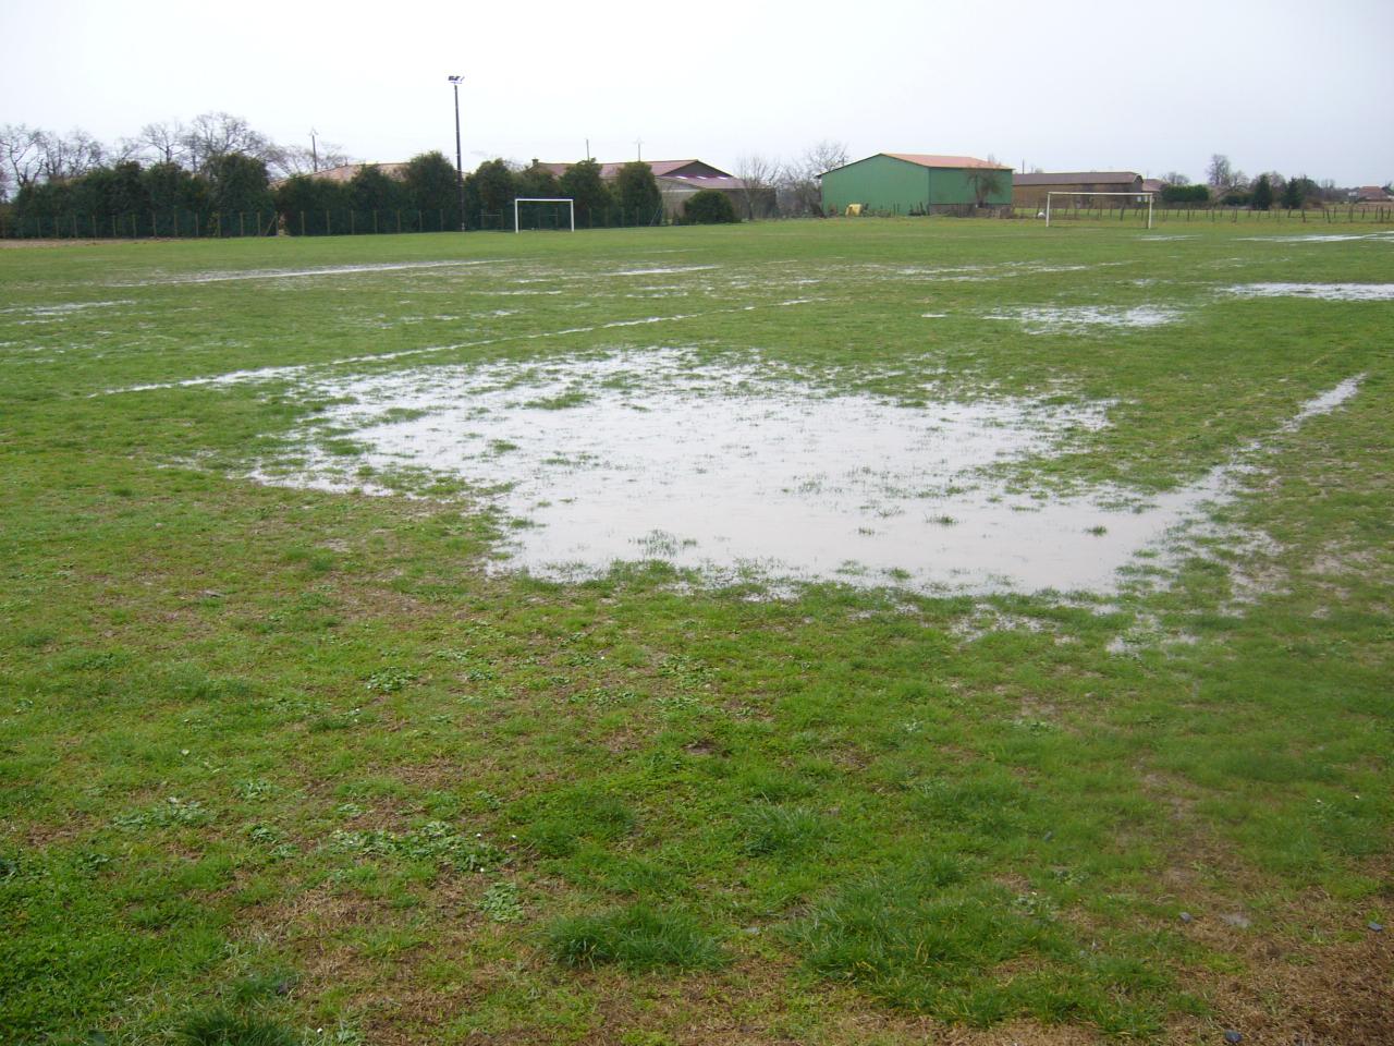
[[[139,139],[123,139],[118,149],[82,131],[64,137],[11,124],[0,127],[0,185],[18,187],[7,205],[14,225],[57,229],[60,219],[79,218],[79,227],[93,234],[162,227],[199,233],[212,220],[222,229],[227,216],[252,218],[255,232],[279,226],[290,234],[502,227],[510,225],[517,197],[567,197],[581,226],[662,219],[658,183],[641,162],[606,181],[594,160],[556,176],[535,162],[524,169],[491,159],[461,185],[439,151],[414,156],[392,174],[361,165],[348,180],[319,177],[326,167],[316,160],[348,162],[337,148],[305,162],[309,152],[277,146],[226,113],[205,114],[188,127],[146,126]],[[698,201],[693,220],[735,220],[733,212],[712,206]],[[241,227],[245,232],[245,222]]]

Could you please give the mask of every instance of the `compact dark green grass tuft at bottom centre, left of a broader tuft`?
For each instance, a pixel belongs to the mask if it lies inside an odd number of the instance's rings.
[[[613,962],[641,972],[714,969],[728,961],[717,940],[691,916],[645,905],[562,919],[548,932],[548,944],[552,955],[569,967]]]

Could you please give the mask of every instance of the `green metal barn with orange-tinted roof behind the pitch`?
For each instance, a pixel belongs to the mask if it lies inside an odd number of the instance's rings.
[[[974,156],[878,152],[822,174],[822,209],[845,213],[928,213],[941,208],[1012,202],[1012,169]]]

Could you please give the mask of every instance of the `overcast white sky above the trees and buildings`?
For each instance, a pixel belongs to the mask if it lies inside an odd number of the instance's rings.
[[[1048,14],[1055,11],[1055,14]],[[1157,13],[1156,15],[1147,11]],[[1172,13],[1177,13],[1172,15]],[[0,123],[103,141],[223,110],[365,160],[783,158],[1394,179],[1394,1],[0,0]]]

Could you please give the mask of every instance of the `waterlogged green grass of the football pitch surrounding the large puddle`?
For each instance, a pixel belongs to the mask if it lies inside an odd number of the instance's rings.
[[[1195,238],[928,219],[0,251],[0,1043],[1383,1020],[1320,978],[1394,997],[1366,929],[1394,904],[1394,303],[1221,289],[1390,283],[1390,244],[1158,232]],[[171,282],[446,259],[489,264]],[[711,268],[613,275],[662,266]],[[658,283],[679,296],[631,296]],[[124,304],[35,311],[82,303]],[[1181,319],[986,318],[1069,305]],[[1004,466],[1041,497],[1144,498],[1259,449],[1218,531],[1115,597],[771,598],[659,559],[560,583],[491,569],[527,520],[449,477],[245,478],[304,432],[358,464],[307,375],[651,346],[906,404],[1107,402],[1062,456]],[[265,367],[308,370],[177,384]]]

